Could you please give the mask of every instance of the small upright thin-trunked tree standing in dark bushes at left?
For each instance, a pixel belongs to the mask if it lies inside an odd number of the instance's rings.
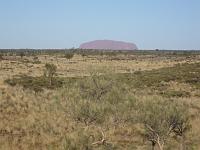
[[[49,80],[50,86],[52,85],[54,76],[56,75],[57,67],[54,64],[46,64],[45,65],[45,71],[44,71],[44,77],[46,77]]]

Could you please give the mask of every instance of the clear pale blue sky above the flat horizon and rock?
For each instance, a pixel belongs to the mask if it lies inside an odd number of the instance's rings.
[[[0,0],[0,48],[71,48],[97,39],[200,49],[200,0]]]

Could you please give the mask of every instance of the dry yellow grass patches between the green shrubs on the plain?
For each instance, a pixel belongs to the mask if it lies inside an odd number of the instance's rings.
[[[126,56],[122,56],[126,57]],[[61,55],[38,56],[40,64],[24,63],[20,57],[5,57],[0,68],[0,149],[67,149],[66,136],[77,137],[74,130],[83,129],[94,132],[95,140],[101,139],[101,133],[94,126],[85,127],[70,119],[67,112],[69,101],[79,98],[76,89],[44,90],[35,94],[31,90],[24,90],[20,86],[11,87],[4,80],[15,75],[25,74],[29,76],[41,76],[45,63],[54,63],[58,68],[59,77],[87,76],[95,70],[108,69],[114,73],[133,73],[134,71],[152,70],[171,67],[179,63],[200,62],[200,57],[195,59],[171,59],[154,56],[134,56],[135,60],[107,60],[102,56],[89,56],[89,58],[75,55],[73,59],[67,60]],[[32,57],[24,57],[33,61]],[[169,90],[183,90],[191,93],[190,97],[177,98],[178,101],[187,102],[195,119],[192,121],[192,130],[188,133],[186,142],[195,143],[194,150],[200,149],[200,99],[199,90],[194,90],[189,84],[170,82]],[[150,89],[135,90],[132,94],[137,99],[148,99],[161,97]],[[152,93],[155,92],[155,93]],[[196,117],[197,116],[197,117]],[[78,127],[77,127],[78,126]],[[107,125],[104,129],[108,142],[121,145],[133,144],[130,149],[147,149],[148,142],[144,142],[138,132],[137,125],[119,125],[113,127]],[[173,144],[172,144],[173,145]],[[177,149],[175,144],[174,149]],[[98,149],[94,146],[93,149]],[[101,149],[104,149],[101,147]],[[114,148],[113,148],[114,149]],[[126,147],[124,147],[126,149]],[[127,148],[128,149],[128,148]]]

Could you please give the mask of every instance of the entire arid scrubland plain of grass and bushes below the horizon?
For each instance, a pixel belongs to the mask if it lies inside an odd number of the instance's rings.
[[[200,149],[200,52],[31,53],[0,55],[0,149]]]

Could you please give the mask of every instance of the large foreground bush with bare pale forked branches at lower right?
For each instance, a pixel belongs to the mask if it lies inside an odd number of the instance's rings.
[[[185,110],[168,100],[147,100],[141,108],[140,121],[145,127],[145,137],[151,142],[152,149],[158,145],[164,149],[166,140],[172,133],[181,136],[188,128],[188,119]]]

